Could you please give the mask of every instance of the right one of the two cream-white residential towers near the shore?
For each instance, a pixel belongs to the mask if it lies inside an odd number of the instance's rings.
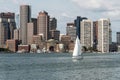
[[[105,53],[109,52],[110,43],[110,20],[100,19],[98,20],[98,51]]]

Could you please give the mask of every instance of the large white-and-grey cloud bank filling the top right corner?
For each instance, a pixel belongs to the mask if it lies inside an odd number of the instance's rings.
[[[120,17],[120,1],[119,0],[72,0],[84,11],[95,11],[103,16]]]

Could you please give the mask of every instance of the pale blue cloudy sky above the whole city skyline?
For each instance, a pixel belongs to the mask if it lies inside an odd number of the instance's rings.
[[[32,17],[42,10],[58,20],[58,30],[66,32],[66,23],[73,22],[76,16],[87,17],[93,21],[110,18],[113,41],[120,32],[120,0],[0,0],[0,12],[19,14],[19,6],[31,5]]]

